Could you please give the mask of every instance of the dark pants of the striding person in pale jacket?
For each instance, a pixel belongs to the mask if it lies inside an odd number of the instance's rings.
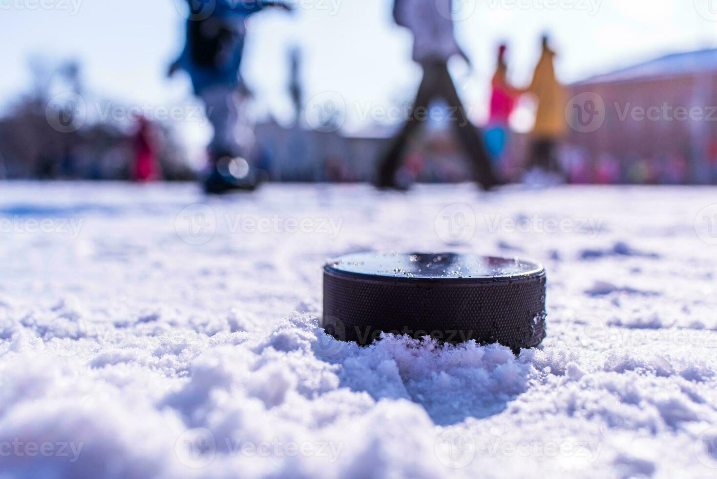
[[[470,158],[475,181],[485,188],[498,184],[495,174],[490,168],[488,153],[483,144],[483,135],[473,123],[470,123],[465,108],[460,103],[458,93],[448,73],[445,62],[423,65],[423,80],[418,87],[416,100],[409,113],[409,118],[402,131],[394,138],[386,156],[379,163],[378,183],[381,186],[394,184],[394,175],[401,165],[401,156],[409,137],[428,116],[428,108],[432,100],[442,98],[450,107],[450,123],[458,134],[458,140]]]

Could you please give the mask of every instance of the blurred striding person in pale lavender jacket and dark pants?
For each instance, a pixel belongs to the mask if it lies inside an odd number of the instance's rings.
[[[450,19],[452,0],[394,0],[394,20],[400,27],[411,30],[413,60],[421,65],[423,78],[416,99],[402,131],[394,138],[388,151],[379,161],[376,186],[379,188],[404,188],[397,184],[396,172],[402,160],[404,148],[416,128],[427,120],[428,108],[438,98],[448,103],[448,110],[458,139],[473,166],[475,181],[485,189],[498,185],[498,179],[490,166],[483,135],[468,120],[453,81],[448,72],[450,57],[459,55],[470,65],[470,60],[458,47]]]

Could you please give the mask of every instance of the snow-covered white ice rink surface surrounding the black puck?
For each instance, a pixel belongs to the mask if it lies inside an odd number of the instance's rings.
[[[1,478],[717,475],[717,189],[3,184]],[[318,326],[366,250],[538,260],[548,336]]]

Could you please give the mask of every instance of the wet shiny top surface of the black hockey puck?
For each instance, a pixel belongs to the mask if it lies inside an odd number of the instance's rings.
[[[536,263],[518,258],[457,253],[365,252],[338,257],[326,272],[386,280],[500,280],[543,272]]]

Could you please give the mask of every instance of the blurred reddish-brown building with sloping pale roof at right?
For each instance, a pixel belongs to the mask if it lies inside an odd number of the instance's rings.
[[[716,92],[717,49],[577,82],[569,86],[566,151],[584,158],[598,181],[612,170],[618,182],[717,182]]]

